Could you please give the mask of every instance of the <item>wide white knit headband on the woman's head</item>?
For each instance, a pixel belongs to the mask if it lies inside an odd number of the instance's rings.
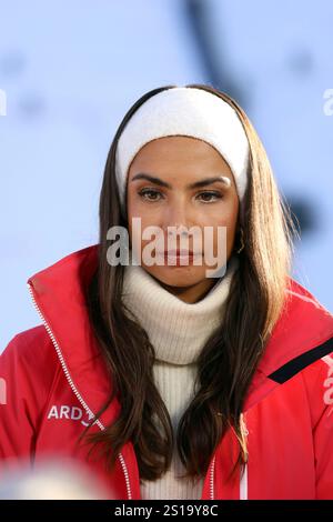
[[[249,142],[235,110],[221,98],[196,88],[176,87],[149,98],[122,131],[115,152],[115,177],[122,210],[128,170],[149,141],[188,135],[213,145],[229,163],[240,201],[246,190]]]

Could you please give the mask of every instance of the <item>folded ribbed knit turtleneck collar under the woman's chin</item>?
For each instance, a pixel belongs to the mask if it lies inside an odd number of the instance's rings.
[[[159,361],[195,362],[213,329],[223,319],[224,303],[238,267],[239,259],[232,255],[225,274],[206,295],[196,303],[186,303],[165,290],[141,265],[125,265],[123,303],[147,331]]]

